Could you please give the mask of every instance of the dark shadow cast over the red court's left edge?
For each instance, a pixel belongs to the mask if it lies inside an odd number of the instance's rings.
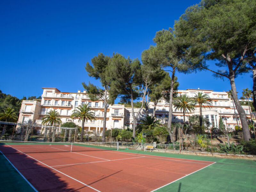
[[[53,169],[37,162],[36,160],[28,157],[27,155],[20,153],[17,150],[5,145],[0,145],[0,151],[2,151],[2,153],[9,159],[9,161],[38,191],[71,192],[77,190],[77,188],[72,188],[68,186],[68,183],[63,180],[59,175],[57,175],[58,173],[56,173]],[[10,170],[10,167],[6,168],[6,170]],[[10,191],[12,191],[11,186],[14,185],[13,178],[4,178],[3,184],[9,185]],[[77,183],[75,183],[74,186],[79,187]]]

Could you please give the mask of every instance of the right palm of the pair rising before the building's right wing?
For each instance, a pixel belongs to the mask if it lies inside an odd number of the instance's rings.
[[[200,109],[199,126],[202,126],[202,122],[203,122],[202,107],[205,108],[207,106],[211,108],[212,100],[207,94],[204,94],[203,92],[197,92],[197,94],[194,97],[194,102],[195,104],[197,103],[199,104],[199,109]]]

